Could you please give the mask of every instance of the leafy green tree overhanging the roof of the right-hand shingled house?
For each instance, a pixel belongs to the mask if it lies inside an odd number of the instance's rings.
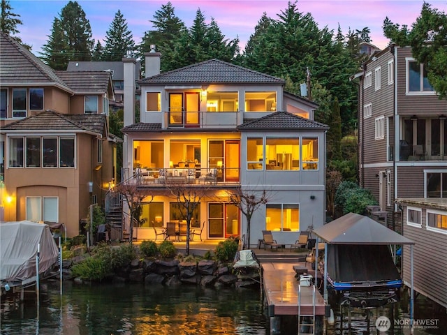
[[[447,98],[447,15],[424,2],[420,16],[411,25],[400,28],[388,17],[383,21],[383,34],[402,47],[411,46],[413,57],[424,64],[427,77],[439,98]]]

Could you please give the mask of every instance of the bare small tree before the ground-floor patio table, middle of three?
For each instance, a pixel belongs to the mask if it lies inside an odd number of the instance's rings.
[[[191,232],[191,219],[194,210],[199,206],[200,201],[205,197],[208,187],[196,186],[195,184],[173,183],[166,187],[177,200],[178,207],[186,220],[186,255],[189,255],[189,233]]]

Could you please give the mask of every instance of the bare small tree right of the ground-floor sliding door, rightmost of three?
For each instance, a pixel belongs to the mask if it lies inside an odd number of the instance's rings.
[[[267,204],[268,196],[265,190],[263,191],[251,191],[242,190],[242,188],[237,188],[236,191],[229,191],[228,196],[230,202],[235,204],[242,214],[244,214],[247,219],[247,244],[244,243],[243,248],[250,247],[250,226],[251,217],[254,211],[258,209],[261,204]]]

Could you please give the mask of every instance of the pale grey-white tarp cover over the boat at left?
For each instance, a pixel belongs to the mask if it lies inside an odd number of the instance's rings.
[[[0,223],[0,280],[24,281],[36,276],[38,244],[42,274],[57,262],[59,255],[48,225],[31,221]]]

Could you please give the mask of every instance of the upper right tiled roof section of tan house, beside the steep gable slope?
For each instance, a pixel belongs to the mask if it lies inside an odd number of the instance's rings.
[[[110,73],[105,71],[55,71],[76,93],[103,94],[108,90]]]

